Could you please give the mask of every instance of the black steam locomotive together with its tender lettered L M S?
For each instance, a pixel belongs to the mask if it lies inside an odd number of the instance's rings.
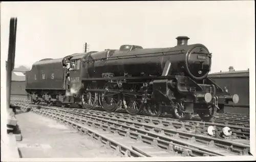
[[[34,104],[125,109],[132,115],[146,111],[152,117],[167,112],[176,119],[194,113],[203,121],[223,110],[225,103],[238,103],[238,95],[207,78],[212,57],[208,49],[188,45],[186,36],[176,39],[172,48],[121,45],[119,50],[37,61],[26,73],[26,91]]]

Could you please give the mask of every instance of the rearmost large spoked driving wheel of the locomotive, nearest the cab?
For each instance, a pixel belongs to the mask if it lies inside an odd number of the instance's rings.
[[[96,86],[89,84],[87,89],[94,89]],[[93,109],[98,102],[98,93],[93,91],[84,90],[82,94],[82,106],[85,109]]]

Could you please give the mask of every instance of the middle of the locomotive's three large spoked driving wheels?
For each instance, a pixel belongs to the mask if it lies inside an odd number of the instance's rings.
[[[117,85],[116,85],[117,86]],[[117,89],[113,84],[107,84],[104,86],[105,92],[102,92],[99,96],[99,101],[104,110],[108,112],[114,112],[120,107],[121,97],[116,92],[110,92]]]

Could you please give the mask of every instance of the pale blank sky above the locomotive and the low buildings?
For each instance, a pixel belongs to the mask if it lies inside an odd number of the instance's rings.
[[[12,16],[18,18],[15,67],[82,52],[85,42],[90,51],[167,48],[183,35],[212,53],[211,73],[247,70],[255,59],[254,1],[2,2],[1,62]]]

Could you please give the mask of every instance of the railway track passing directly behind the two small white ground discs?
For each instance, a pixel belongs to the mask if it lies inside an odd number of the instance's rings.
[[[23,106],[25,103],[17,104],[19,106]],[[233,140],[236,138],[242,138],[249,140],[250,137],[250,129],[248,127],[239,127],[236,125],[223,125],[223,124],[216,124],[216,123],[209,123],[209,122],[197,122],[197,121],[178,121],[176,119],[166,119],[166,118],[153,118],[147,117],[142,115],[129,115],[123,113],[108,113],[105,111],[98,111],[98,110],[84,110],[84,109],[76,109],[76,108],[62,108],[64,110],[73,111],[77,113],[83,113],[88,115],[94,116],[103,116],[103,117],[110,117],[110,118],[117,118],[117,119],[124,119],[126,121],[133,121],[136,123],[146,123],[150,125],[155,125],[159,128],[173,128],[179,129],[182,131],[193,132],[195,134],[205,134],[207,132],[207,128],[209,126],[215,126],[217,129],[222,129],[224,127],[231,128],[233,136],[226,137],[226,140]],[[223,138],[216,134],[217,138]]]

